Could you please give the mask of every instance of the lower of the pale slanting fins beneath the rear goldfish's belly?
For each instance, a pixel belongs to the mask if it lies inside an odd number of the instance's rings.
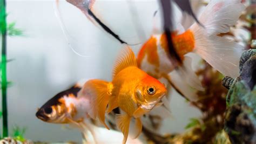
[[[177,71],[172,71],[169,73],[169,81],[172,83],[172,86],[175,87],[176,91],[185,97],[189,101],[197,101],[198,95],[196,94],[197,90],[192,88],[190,85],[183,81],[182,77]]]

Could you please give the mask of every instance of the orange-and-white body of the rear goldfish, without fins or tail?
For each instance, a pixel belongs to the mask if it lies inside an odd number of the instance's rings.
[[[177,35],[172,33],[172,40],[179,57],[194,50],[194,37],[190,30]],[[143,45],[138,54],[138,66],[155,78],[161,78],[174,70],[175,64],[167,56],[168,47],[165,35],[153,35]]]

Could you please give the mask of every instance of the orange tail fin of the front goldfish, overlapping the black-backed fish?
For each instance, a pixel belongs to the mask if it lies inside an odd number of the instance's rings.
[[[93,119],[98,117],[107,129],[109,127],[105,124],[105,111],[110,99],[111,85],[112,83],[108,83],[107,81],[92,79],[84,84],[78,94],[79,97],[83,95],[90,100],[89,115]]]

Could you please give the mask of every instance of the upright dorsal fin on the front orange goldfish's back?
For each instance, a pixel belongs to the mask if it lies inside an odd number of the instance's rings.
[[[137,61],[131,47],[126,46],[118,54],[113,67],[113,77],[116,76],[118,72],[129,66],[137,66]]]

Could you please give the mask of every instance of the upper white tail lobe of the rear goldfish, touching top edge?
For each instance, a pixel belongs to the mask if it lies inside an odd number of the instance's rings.
[[[208,35],[226,33],[230,31],[230,26],[237,23],[244,10],[241,0],[212,0],[201,13],[199,22],[204,24]]]

